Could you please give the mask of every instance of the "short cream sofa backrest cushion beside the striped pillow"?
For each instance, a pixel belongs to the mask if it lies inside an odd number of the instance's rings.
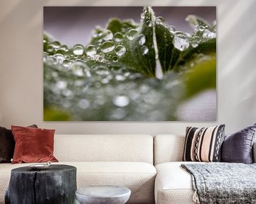
[[[156,135],[154,137],[154,165],[164,162],[181,162],[184,135]]]

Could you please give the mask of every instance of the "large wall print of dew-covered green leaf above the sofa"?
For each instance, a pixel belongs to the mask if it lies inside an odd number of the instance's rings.
[[[216,120],[215,6],[43,14],[44,121]]]

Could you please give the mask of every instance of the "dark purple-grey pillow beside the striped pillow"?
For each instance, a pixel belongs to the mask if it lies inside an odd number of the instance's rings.
[[[233,163],[252,163],[252,144],[256,124],[231,135],[226,135],[222,145],[221,161]]]

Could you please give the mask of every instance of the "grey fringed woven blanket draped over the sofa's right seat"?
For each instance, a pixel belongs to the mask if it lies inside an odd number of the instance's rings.
[[[192,176],[196,203],[256,203],[256,164],[181,164]]]

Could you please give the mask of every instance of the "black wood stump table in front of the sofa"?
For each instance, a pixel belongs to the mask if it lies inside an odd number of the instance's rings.
[[[71,204],[75,203],[76,168],[50,165],[33,170],[29,166],[11,170],[6,191],[6,204]]]

